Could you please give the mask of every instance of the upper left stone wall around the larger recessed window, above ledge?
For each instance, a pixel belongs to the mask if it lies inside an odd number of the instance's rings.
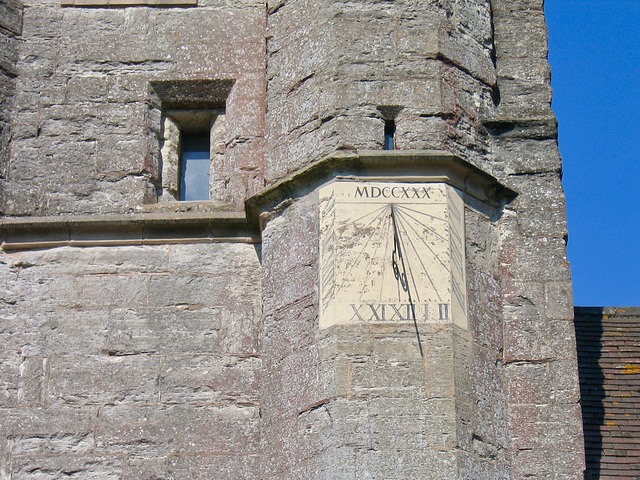
[[[264,5],[24,10],[5,215],[115,213],[156,201],[160,111],[149,82],[235,79],[224,200],[262,187]]]

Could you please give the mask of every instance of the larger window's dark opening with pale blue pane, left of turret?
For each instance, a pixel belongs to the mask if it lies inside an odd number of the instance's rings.
[[[209,132],[182,133],[180,200],[209,200]]]

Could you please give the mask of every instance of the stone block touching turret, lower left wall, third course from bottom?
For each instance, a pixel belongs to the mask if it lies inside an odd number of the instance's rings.
[[[256,357],[168,356],[160,375],[163,403],[258,404]]]

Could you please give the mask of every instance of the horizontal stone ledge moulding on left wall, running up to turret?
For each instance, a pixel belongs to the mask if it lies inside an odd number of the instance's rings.
[[[0,219],[5,251],[62,246],[259,243],[242,212],[64,215]]]

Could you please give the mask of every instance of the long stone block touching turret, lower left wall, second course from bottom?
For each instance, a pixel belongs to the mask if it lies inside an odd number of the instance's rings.
[[[110,453],[255,452],[258,448],[258,408],[105,406],[100,409],[96,432],[96,446]]]

